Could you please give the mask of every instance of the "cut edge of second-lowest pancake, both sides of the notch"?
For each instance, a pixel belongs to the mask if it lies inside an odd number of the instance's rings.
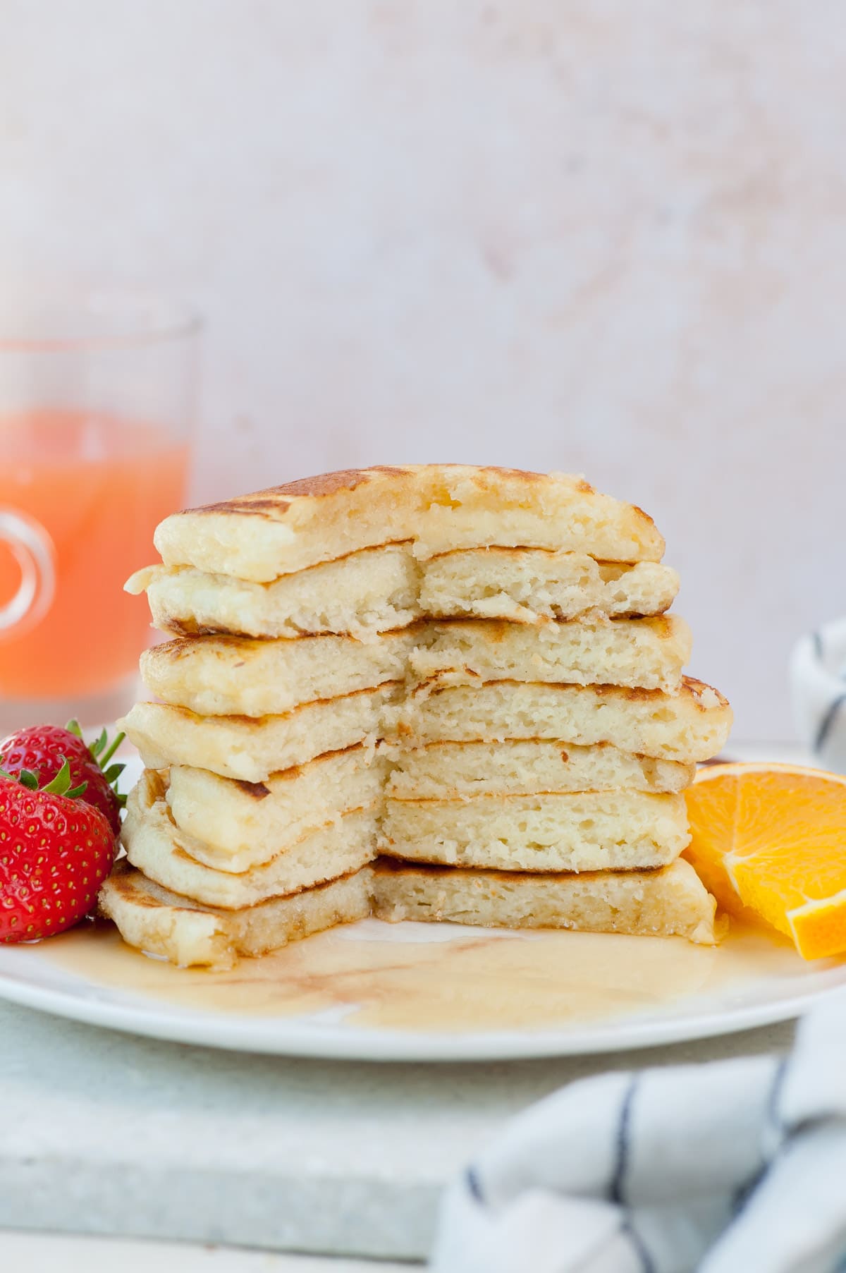
[[[136,866],[155,863],[159,882],[191,895],[205,889],[204,900],[228,908],[258,892],[290,892],[340,873],[327,862],[346,861],[347,840],[355,853],[369,848],[371,857],[383,849],[410,859],[519,871],[662,866],[688,843],[679,794],[612,791],[396,801],[384,797],[378,778],[343,788],[337,803],[305,801],[293,810],[282,805],[266,820],[251,819],[249,806],[244,812],[233,793],[205,821],[190,807],[186,821],[184,801],[172,799],[167,777],[145,774],[130,793],[122,843]],[[262,801],[257,812],[265,807]],[[186,881],[184,889],[177,880]]]

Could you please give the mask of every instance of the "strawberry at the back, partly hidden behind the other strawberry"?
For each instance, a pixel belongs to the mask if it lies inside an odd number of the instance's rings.
[[[84,799],[106,816],[114,835],[121,830],[121,808],[126,797],[116,791],[123,765],[109,765],[109,760],[123,742],[118,733],[108,745],[106,729],[89,747],[76,721],[69,721],[61,729],[57,724],[36,724],[18,729],[0,742],[0,769],[13,778],[24,769],[32,770],[42,785],[52,782],[65,760],[70,765],[70,784],[85,784]],[[104,770],[104,766],[108,768]]]

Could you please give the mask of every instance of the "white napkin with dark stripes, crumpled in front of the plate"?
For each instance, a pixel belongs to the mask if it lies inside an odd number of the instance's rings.
[[[846,1270],[846,995],[786,1059],[604,1074],[448,1193],[433,1273]]]

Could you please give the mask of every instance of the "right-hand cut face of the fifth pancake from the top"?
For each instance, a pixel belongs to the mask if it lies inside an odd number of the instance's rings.
[[[398,799],[614,789],[681,792],[696,773],[692,764],[635,756],[609,743],[579,747],[529,738],[383,750],[391,760],[385,794]]]

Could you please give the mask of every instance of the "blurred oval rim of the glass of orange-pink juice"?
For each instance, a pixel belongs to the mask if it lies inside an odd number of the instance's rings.
[[[101,328],[70,330],[85,318]],[[0,307],[0,355],[141,349],[196,336],[202,326],[193,306],[151,293],[37,293]]]

